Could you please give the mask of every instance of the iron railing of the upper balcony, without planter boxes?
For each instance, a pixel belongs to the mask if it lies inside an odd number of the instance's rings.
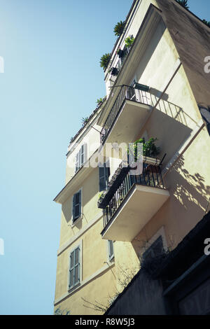
[[[114,102],[111,111],[109,112],[109,116],[104,123],[104,127],[101,132],[101,143],[104,143],[113,122],[116,120],[118,113],[123,105],[125,99],[130,99],[135,102],[144,103],[146,105],[152,105],[152,97],[149,92],[144,92],[143,90],[134,89],[133,87],[123,85],[120,89],[118,97],[116,98],[116,102]]]

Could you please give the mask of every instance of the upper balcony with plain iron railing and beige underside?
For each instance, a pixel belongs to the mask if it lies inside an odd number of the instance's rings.
[[[146,122],[153,101],[144,90],[123,85],[101,132],[101,143],[130,143]]]

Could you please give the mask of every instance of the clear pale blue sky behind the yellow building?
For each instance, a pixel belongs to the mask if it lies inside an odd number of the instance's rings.
[[[144,0],[143,0],[144,1]],[[52,314],[66,149],[132,0],[0,0],[0,314]],[[209,0],[190,10],[210,20]],[[209,54],[210,55],[210,54]]]

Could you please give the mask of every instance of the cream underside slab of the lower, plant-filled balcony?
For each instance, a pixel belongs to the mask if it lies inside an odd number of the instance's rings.
[[[132,241],[168,198],[168,190],[135,184],[106,224],[102,239]]]

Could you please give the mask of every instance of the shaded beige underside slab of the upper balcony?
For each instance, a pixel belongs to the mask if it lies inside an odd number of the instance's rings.
[[[151,113],[150,105],[125,99],[106,136],[106,143],[132,143]]]

